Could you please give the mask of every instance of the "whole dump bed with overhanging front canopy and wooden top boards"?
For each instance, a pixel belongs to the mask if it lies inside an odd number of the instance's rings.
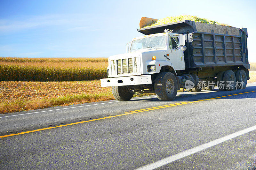
[[[183,20],[159,26],[141,28],[156,19],[141,18],[138,31],[145,35],[163,33],[187,34],[185,67],[244,66],[250,68],[247,50],[247,29]],[[148,21],[148,22],[147,22]]]

